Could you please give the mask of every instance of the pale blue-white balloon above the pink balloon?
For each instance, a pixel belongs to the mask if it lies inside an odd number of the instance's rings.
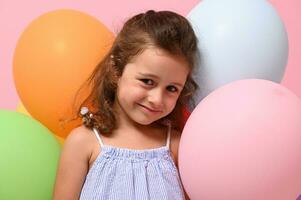
[[[193,73],[200,102],[235,80],[280,82],[287,63],[288,38],[276,10],[265,0],[204,0],[188,15],[200,49]],[[191,106],[191,110],[194,106]]]

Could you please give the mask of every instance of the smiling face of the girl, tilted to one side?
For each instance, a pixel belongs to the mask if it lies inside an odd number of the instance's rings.
[[[119,116],[141,125],[165,117],[174,109],[188,73],[182,57],[155,47],[145,49],[119,78],[114,105]]]

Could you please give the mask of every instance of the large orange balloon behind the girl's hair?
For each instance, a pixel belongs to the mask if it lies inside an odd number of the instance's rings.
[[[16,46],[13,74],[32,117],[62,138],[78,126],[79,120],[61,122],[74,116],[77,90],[113,40],[114,35],[97,19],[74,10],[49,12],[30,23]]]

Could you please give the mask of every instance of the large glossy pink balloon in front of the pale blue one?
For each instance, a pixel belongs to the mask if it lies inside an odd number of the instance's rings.
[[[179,148],[194,200],[295,200],[301,194],[301,101],[285,87],[249,79],[207,96]]]

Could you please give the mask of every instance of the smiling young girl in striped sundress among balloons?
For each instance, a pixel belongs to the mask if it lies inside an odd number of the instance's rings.
[[[90,77],[84,126],[67,137],[55,200],[184,199],[177,171],[197,39],[170,11],[129,19]]]

